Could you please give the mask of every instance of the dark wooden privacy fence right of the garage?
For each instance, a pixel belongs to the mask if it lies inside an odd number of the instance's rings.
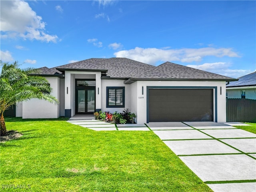
[[[227,122],[256,122],[256,100],[227,99]]]

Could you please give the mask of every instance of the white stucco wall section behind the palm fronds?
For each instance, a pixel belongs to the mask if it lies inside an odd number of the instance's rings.
[[[60,86],[60,79],[57,77],[47,77],[46,79],[53,89],[51,94],[59,99],[60,94],[58,87]],[[60,116],[59,109],[59,106],[56,104],[44,100],[31,99],[22,104],[22,118],[58,118]]]

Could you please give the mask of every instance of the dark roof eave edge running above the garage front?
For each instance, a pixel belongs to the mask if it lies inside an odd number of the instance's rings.
[[[132,84],[136,81],[238,81],[238,79],[179,79],[179,78],[129,78],[124,84]]]

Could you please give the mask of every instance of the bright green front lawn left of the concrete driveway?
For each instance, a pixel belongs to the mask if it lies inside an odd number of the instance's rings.
[[[152,131],[97,132],[65,120],[6,118],[24,135],[0,144],[1,191],[212,191]]]

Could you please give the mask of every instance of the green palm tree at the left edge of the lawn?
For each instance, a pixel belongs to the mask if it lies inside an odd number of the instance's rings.
[[[4,111],[17,102],[38,98],[58,104],[58,100],[50,95],[52,88],[46,78],[38,75],[35,68],[20,69],[18,62],[1,63],[0,75],[0,134],[6,134]]]

